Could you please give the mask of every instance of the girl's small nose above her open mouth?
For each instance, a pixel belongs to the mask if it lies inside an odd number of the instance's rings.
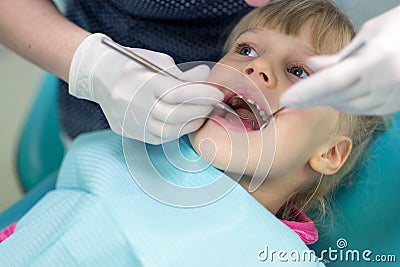
[[[251,61],[243,70],[254,82],[273,89],[276,85],[276,78],[271,66],[261,58]]]

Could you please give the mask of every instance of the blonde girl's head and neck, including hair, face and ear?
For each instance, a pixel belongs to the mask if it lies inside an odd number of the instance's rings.
[[[224,91],[226,103],[238,94],[255,101],[261,112],[271,113],[262,99],[267,100],[272,111],[278,110],[280,95],[299,79],[313,74],[307,65],[308,57],[336,53],[353,36],[351,23],[330,1],[272,1],[239,22],[210,81],[229,88]],[[246,78],[256,86],[246,86]],[[260,117],[252,114],[260,113],[255,105],[250,104],[250,111],[243,101],[236,105],[231,106],[240,115]],[[305,219],[302,212],[317,203],[324,209],[324,196],[351,170],[377,123],[378,117],[348,115],[328,107],[286,109],[278,113],[274,124],[260,132],[235,128],[233,125],[240,124],[238,120],[215,113],[190,135],[190,140],[214,166],[229,174],[245,170],[240,181],[245,188],[255,176],[265,178],[252,195],[279,218],[293,221]],[[212,142],[202,142],[205,139]],[[248,144],[237,141],[246,139]],[[231,153],[232,150],[240,153]],[[241,164],[243,155],[249,158]],[[301,224],[288,224],[301,231]]]

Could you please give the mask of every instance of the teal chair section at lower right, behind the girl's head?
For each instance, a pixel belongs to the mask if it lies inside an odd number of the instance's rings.
[[[335,192],[334,221],[323,225],[319,241],[312,246],[318,256],[327,250],[327,266],[400,266],[399,148],[397,113],[390,128],[376,136],[351,186]],[[327,255],[329,250],[332,257]]]

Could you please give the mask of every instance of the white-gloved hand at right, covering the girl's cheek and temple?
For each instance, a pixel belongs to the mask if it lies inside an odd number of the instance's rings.
[[[281,97],[293,109],[332,106],[356,114],[383,115],[400,110],[400,6],[369,20],[341,52],[318,56],[309,66],[320,70]],[[360,43],[353,56],[340,59]]]

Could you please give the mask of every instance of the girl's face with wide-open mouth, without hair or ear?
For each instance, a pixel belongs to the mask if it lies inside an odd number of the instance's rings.
[[[271,114],[280,108],[281,94],[313,72],[305,64],[307,58],[315,55],[310,28],[303,27],[298,37],[269,29],[244,32],[212,69],[209,81],[221,85],[224,102],[230,103],[238,114],[254,117],[253,113],[260,112],[232,104],[230,98],[235,94],[253,99],[264,113]],[[309,161],[329,149],[327,140],[338,116],[337,111],[328,107],[286,109],[260,131],[252,130],[248,121],[216,111],[200,130],[190,135],[190,140],[196,151],[215,167],[232,176],[244,174],[241,183],[252,185],[250,191],[261,185],[254,196],[272,211],[280,207],[279,202],[315,179],[316,172]]]

